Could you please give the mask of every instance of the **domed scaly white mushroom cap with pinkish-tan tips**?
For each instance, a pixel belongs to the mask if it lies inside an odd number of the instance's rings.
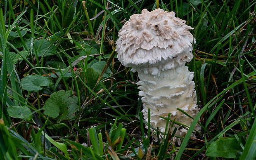
[[[158,66],[161,61],[159,69],[163,70],[174,58],[173,64],[185,64],[193,58],[191,51],[195,43],[189,29],[192,28],[176,18],[174,12],[143,9],[142,14],[130,16],[119,31],[117,57],[124,66],[135,67],[133,71],[137,67]]]

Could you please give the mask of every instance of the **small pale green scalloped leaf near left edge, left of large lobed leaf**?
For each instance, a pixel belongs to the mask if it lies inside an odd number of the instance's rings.
[[[31,110],[27,106],[9,106],[7,111],[13,118],[26,118],[27,120],[31,120],[33,117]]]

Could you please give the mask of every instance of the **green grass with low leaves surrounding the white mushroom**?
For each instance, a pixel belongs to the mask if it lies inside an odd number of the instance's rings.
[[[0,159],[254,159],[255,3],[1,0]],[[115,52],[124,22],[158,6],[185,19],[197,41],[187,65],[201,110],[181,146],[169,132],[152,140],[137,75]]]

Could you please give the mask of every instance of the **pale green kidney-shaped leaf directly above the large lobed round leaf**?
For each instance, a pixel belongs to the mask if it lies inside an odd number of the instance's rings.
[[[21,80],[21,87],[28,92],[38,92],[43,86],[52,85],[52,81],[42,75],[28,75]]]

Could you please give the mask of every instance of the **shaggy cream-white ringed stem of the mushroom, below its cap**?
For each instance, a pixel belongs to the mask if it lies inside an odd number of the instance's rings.
[[[150,108],[150,125],[161,132],[165,132],[167,120],[161,117],[168,117],[171,113],[171,120],[185,126],[190,126],[192,119],[178,111],[180,108],[188,115],[194,117],[198,113],[197,96],[195,92],[195,83],[193,72],[188,71],[187,66],[178,66],[170,70],[161,71],[159,75],[145,74],[138,71],[140,81],[137,82],[140,89],[139,95],[142,96],[144,119],[148,122],[148,109]],[[171,123],[169,123],[170,127]],[[174,125],[171,128],[180,126]],[[197,129],[198,130],[198,129]],[[187,130],[178,129],[177,136],[184,137]]]

